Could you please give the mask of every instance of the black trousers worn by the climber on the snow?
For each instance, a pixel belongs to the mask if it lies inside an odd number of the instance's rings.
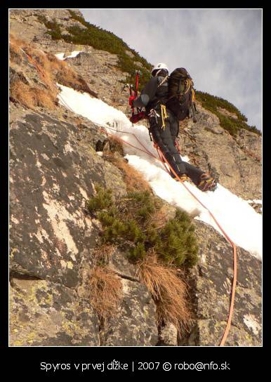
[[[165,128],[162,128],[161,107],[157,107],[155,111],[158,115],[149,118],[150,135],[154,143],[157,143],[166,160],[179,176],[185,174],[189,176],[193,183],[198,185],[204,171],[192,166],[192,164],[183,162],[175,145],[179,133],[178,119],[171,111],[166,109],[168,118],[164,120]],[[175,178],[173,173],[171,173],[171,176]]]

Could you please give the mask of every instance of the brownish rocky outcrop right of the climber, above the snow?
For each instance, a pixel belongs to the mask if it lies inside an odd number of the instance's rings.
[[[195,165],[244,199],[261,199],[261,137],[242,130],[233,138],[215,114],[197,105],[197,123],[180,124],[180,147]],[[247,148],[246,148],[247,147]],[[254,153],[254,155],[252,154]]]

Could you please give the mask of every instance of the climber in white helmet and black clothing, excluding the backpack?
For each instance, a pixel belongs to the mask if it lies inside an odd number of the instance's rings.
[[[179,120],[166,107],[167,100],[168,67],[164,63],[159,63],[153,67],[152,78],[147,82],[140,96],[136,99],[135,96],[130,96],[129,105],[131,107],[145,107],[150,137],[158,145],[168,164],[171,165],[181,180],[190,178],[201,191],[216,190],[216,180],[209,173],[204,173],[204,171],[197,169],[192,164],[183,162],[181,159],[177,143]],[[171,176],[176,178],[172,171]]]

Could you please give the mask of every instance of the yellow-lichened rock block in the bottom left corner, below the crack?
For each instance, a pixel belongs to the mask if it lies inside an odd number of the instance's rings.
[[[39,279],[12,278],[11,346],[98,346],[98,316],[72,289]]]

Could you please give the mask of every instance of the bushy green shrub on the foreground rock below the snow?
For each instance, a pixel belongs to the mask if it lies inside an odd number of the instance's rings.
[[[143,260],[148,251],[157,253],[164,263],[192,267],[197,263],[197,243],[194,226],[187,213],[177,210],[175,218],[164,228],[154,228],[159,201],[150,192],[129,192],[112,202],[111,192],[99,188],[88,201],[88,211],[103,225],[105,243],[130,243],[131,261]]]

